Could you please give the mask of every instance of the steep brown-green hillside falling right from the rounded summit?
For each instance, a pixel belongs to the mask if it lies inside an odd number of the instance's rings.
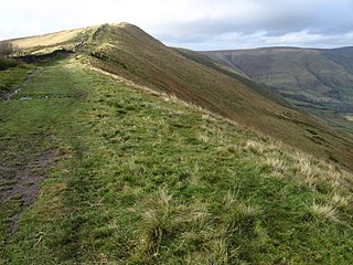
[[[86,63],[96,68],[173,94],[306,151],[353,168],[351,138],[308,115],[264,97],[248,87],[248,80],[242,75],[236,80],[190,60],[137,26],[126,23],[103,25],[85,46],[95,56]]]

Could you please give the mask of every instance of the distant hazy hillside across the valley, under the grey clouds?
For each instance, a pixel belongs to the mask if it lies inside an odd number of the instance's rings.
[[[353,49],[269,47],[205,52],[272,87],[291,103],[353,132]]]

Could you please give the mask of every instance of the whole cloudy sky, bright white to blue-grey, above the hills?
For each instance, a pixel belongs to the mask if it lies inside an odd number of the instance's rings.
[[[0,0],[0,40],[133,23],[193,50],[353,45],[353,0]]]

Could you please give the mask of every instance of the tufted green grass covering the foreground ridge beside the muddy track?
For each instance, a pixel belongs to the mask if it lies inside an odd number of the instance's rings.
[[[343,168],[77,61],[22,93],[49,98],[1,103],[1,137],[40,134],[56,162],[3,263],[352,264]]]

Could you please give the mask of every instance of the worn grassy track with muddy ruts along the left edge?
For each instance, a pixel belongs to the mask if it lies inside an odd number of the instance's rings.
[[[74,86],[60,63],[36,67],[0,102],[0,248],[55,165],[60,128],[77,99]]]

